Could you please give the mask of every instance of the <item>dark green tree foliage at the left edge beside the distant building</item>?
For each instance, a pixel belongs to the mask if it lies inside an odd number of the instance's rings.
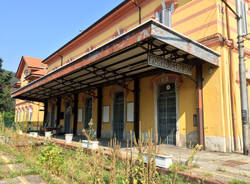
[[[15,109],[15,102],[11,98],[11,81],[14,76],[12,72],[2,69],[2,63],[3,60],[0,58],[0,112],[8,112],[9,121],[13,119]]]

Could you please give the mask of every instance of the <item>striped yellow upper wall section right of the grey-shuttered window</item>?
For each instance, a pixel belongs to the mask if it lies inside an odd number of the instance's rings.
[[[199,40],[218,32],[216,0],[193,0],[173,13],[173,29]]]

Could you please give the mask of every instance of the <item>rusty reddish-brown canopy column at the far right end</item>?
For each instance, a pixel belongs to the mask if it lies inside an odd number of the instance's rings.
[[[202,64],[196,65],[196,104],[197,104],[197,120],[198,120],[198,135],[199,144],[205,149],[204,141],[204,116],[203,116],[203,78]]]

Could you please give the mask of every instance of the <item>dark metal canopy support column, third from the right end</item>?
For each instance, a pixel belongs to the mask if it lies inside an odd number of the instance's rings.
[[[102,87],[97,88],[97,138],[101,138],[102,133]]]

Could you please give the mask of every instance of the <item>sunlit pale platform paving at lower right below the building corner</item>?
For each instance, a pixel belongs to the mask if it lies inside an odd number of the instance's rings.
[[[172,155],[174,162],[185,163],[192,149],[162,144],[157,146],[159,153]],[[125,149],[122,149],[125,152]],[[136,152],[136,150],[134,150]],[[250,156],[238,153],[197,152],[194,168],[188,171],[204,178],[214,178],[221,181],[240,180],[250,183]]]

